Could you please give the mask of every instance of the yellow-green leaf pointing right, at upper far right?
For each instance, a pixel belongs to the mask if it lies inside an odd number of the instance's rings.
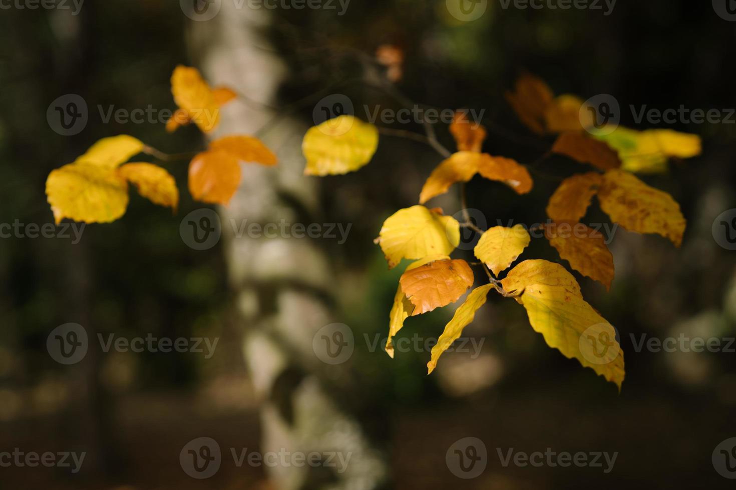
[[[671,129],[637,131],[618,126],[614,131],[592,134],[618,151],[621,169],[635,173],[663,173],[670,157],[690,158],[701,152],[697,134],[680,133]],[[606,134],[608,133],[608,134]]]

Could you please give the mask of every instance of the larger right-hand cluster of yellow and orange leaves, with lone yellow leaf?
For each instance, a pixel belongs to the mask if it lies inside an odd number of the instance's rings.
[[[587,118],[589,112],[584,110],[580,98],[554,97],[545,82],[529,75],[517,80],[506,99],[531,131],[556,134],[549,154],[565,155],[593,169],[562,181],[547,206],[551,223],[543,225],[545,237],[573,269],[600,281],[606,289],[614,278],[613,257],[604,238],[579,223],[593,195],[598,195],[601,209],[614,223],[630,231],[660,234],[680,245],[685,220],[678,203],[632,172],[661,172],[670,157],[696,156],[700,153],[699,137],[670,130],[636,131],[623,127],[595,131],[592,115]],[[464,185],[476,174],[506,184],[520,195],[533,187],[525,165],[505,156],[482,153],[486,129],[471,126],[461,114],[456,114],[449,128],[458,151],[442,160],[428,176],[419,204],[388,217],[375,240],[389,268],[403,259],[414,261],[399,280],[389,314],[386,352],[394,356],[392,337],[408,317],[454,303],[473,287],[471,264],[450,258],[459,245],[460,228],[467,227],[481,235],[474,254],[488,282],[473,289],[445,325],[431,351],[428,371],[434,370],[439,356],[459,338],[463,328],[473,321],[475,311],[486,302],[488,292],[495,289],[526,309],[531,327],[542,334],[550,347],[578,359],[620,389],[624,378],[623,352],[615,340],[615,329],[583,299],[576,279],[565,267],[531,259],[520,262],[498,279],[531,241],[526,228],[516,225],[482,230],[467,215],[466,222],[459,223],[444,215],[442,209],[424,206],[453,184]],[[325,176],[358,170],[369,163],[377,145],[378,129],[371,124],[350,115],[325,121],[305,135],[305,173]],[[575,226],[578,232],[561,233],[564,226]],[[598,347],[605,347],[602,353]]]

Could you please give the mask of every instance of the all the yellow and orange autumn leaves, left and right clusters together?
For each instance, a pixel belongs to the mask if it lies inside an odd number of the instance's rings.
[[[389,53],[390,54],[390,53]],[[390,57],[394,68],[400,62]],[[210,89],[194,68],[179,66],[171,76],[171,92],[179,109],[166,124],[167,131],[194,122],[205,133],[219,123],[219,109],[237,96],[227,87]],[[595,130],[584,103],[571,95],[553,96],[551,89],[534,76],[517,81],[506,100],[519,119],[536,134],[555,134],[548,154],[562,154],[592,170],[563,180],[549,199],[543,225],[545,237],[573,269],[600,281],[608,289],[614,278],[613,257],[601,234],[579,223],[594,195],[601,209],[623,228],[655,233],[679,246],[685,220],[679,205],[666,192],[649,187],[632,172],[652,173],[666,169],[671,157],[687,158],[700,153],[700,139],[693,134],[669,130],[636,131],[618,127]],[[590,116],[592,118],[592,115]],[[607,128],[610,129],[610,128]],[[447,192],[453,184],[464,186],[473,176],[499,182],[517,194],[530,192],[534,182],[525,165],[505,156],[482,152],[483,126],[471,126],[458,112],[450,124],[457,151],[445,157],[431,172],[420,192],[419,203],[388,217],[375,242],[381,246],[389,268],[403,259],[407,265],[399,280],[389,314],[386,352],[394,356],[392,337],[414,315],[454,303],[473,288],[471,265],[483,268],[488,281],[475,287],[459,306],[431,351],[428,371],[439,356],[473,321],[475,311],[494,289],[504,298],[514,298],[528,314],[529,323],[550,347],[578,359],[619,387],[624,378],[623,352],[615,329],[582,297],[574,276],[561,264],[540,259],[520,262],[505,277],[498,278],[516,262],[531,241],[526,228],[494,226],[482,230],[424,204]],[[314,126],[302,142],[305,175],[342,175],[367,165],[378,147],[378,128],[352,115],[340,115]],[[429,143],[436,143],[436,140]],[[436,143],[439,145],[439,143]],[[436,148],[435,145],[435,148]],[[440,145],[441,146],[441,145]],[[106,223],[124,215],[127,184],[153,203],[176,209],[179,194],[173,177],[158,165],[126,163],[136,154],[149,154],[163,161],[163,154],[127,135],[100,140],[74,162],[49,174],[46,194],[57,222],[65,217],[87,223]],[[213,140],[189,164],[188,187],[194,199],[227,204],[241,180],[239,162],[275,165],[276,157],[260,140],[232,135]],[[562,226],[583,228],[584,233],[563,234]],[[479,262],[452,259],[460,240],[460,228],[480,234],[474,254]],[[597,349],[597,342],[606,348]],[[610,347],[610,348],[609,348]]]

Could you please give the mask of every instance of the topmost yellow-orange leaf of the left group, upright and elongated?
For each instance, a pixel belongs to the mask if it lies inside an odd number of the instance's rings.
[[[171,93],[177,106],[186,113],[188,120],[199,126],[199,129],[208,133],[217,127],[220,107],[215,101],[212,89],[202,79],[197,68],[182,65],[174,68],[174,73],[171,74]]]

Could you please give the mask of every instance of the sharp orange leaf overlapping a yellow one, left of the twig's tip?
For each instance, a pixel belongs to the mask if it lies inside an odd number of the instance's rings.
[[[462,259],[436,260],[406,270],[399,284],[414,305],[414,316],[457,301],[473,286],[473,270]]]

